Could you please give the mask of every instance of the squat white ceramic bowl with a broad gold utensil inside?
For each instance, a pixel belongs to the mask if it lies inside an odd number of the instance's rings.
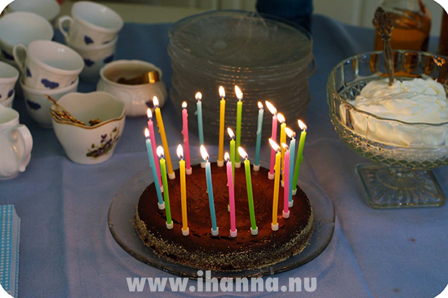
[[[141,60],[117,60],[105,65],[99,72],[100,79],[96,90],[106,91],[125,103],[127,116],[146,115],[146,109],[154,112],[152,98],[157,96],[160,107],[167,98],[167,90],[164,82],[146,83],[140,85],[125,85],[117,83],[119,78],[134,78],[151,70],[159,72],[162,79],[162,70],[154,64]]]

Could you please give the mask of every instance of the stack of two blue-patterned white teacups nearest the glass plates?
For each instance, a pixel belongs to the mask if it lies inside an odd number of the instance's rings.
[[[81,79],[96,82],[99,70],[115,56],[117,34],[123,27],[123,19],[105,5],[90,1],[73,4],[71,16],[59,18],[59,29],[65,43],[84,59]],[[65,22],[69,30],[64,29]]]

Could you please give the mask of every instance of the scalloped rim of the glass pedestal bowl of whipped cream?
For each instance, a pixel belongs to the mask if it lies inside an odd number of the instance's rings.
[[[419,56],[432,56],[432,57],[440,57],[442,59],[444,59],[446,61],[446,63],[448,63],[448,56],[444,56],[444,55],[439,55],[439,54],[435,54],[435,53],[431,53],[431,52],[423,52],[423,51],[414,51],[414,50],[392,50],[392,53],[417,53]],[[383,51],[370,51],[370,52],[363,52],[357,55],[353,55],[350,56],[348,58],[345,58],[344,60],[340,61],[338,64],[336,64],[335,67],[333,67],[333,69],[331,70],[330,74],[328,75],[328,80],[327,80],[327,90],[328,91],[332,91],[332,95],[336,95],[336,98],[342,102],[343,105],[347,105],[350,107],[351,110],[362,114],[362,115],[367,115],[370,117],[374,117],[375,119],[379,120],[379,121],[389,121],[389,122],[397,122],[400,124],[405,124],[405,125],[411,125],[411,126],[418,126],[418,125],[426,125],[426,126],[432,126],[432,127],[440,127],[440,126],[444,126],[444,125],[448,125],[448,120],[445,122],[440,122],[440,123],[426,123],[426,122],[406,122],[406,121],[401,121],[398,119],[393,119],[393,118],[385,118],[385,117],[379,117],[375,114],[372,114],[370,112],[366,112],[363,111],[361,109],[356,108],[353,104],[350,104],[347,100],[345,100],[342,96],[339,95],[339,92],[336,91],[336,86],[335,84],[332,83],[332,76],[334,73],[336,73],[336,71],[342,67],[345,63],[347,63],[347,61],[349,60],[354,60],[354,59],[359,59],[361,56],[372,56],[372,54],[382,54]],[[380,73],[379,71],[376,73]],[[373,73],[373,74],[376,74]],[[366,76],[365,78],[370,78],[370,76]],[[403,77],[399,77],[399,78],[403,78]],[[432,78],[432,77],[431,77]],[[374,81],[374,80],[372,80]],[[356,82],[356,81],[353,81]],[[445,84],[442,84],[443,86],[448,86]],[[328,95],[327,95],[328,96]],[[334,96],[333,96],[334,98]],[[448,100],[448,99],[447,99]],[[327,99],[328,101],[328,99]],[[328,103],[329,104],[329,103]]]

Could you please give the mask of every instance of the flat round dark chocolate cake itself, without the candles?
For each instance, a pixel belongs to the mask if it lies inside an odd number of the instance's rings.
[[[193,167],[186,176],[188,227],[190,235],[181,233],[181,195],[179,170],[176,179],[168,180],[173,229],[165,225],[165,210],[157,207],[154,184],[140,196],[134,225],[139,237],[157,255],[173,262],[202,270],[235,271],[261,268],[300,253],[307,245],[314,229],[310,200],[297,187],[290,217],[282,217],[283,188],[280,187],[278,231],[271,230],[274,181],[267,178],[268,169],[252,173],[255,218],[258,235],[250,233],[244,165],[235,168],[235,214],[238,235],[231,238],[230,216],[227,210],[228,186],[226,168],[211,164],[213,194],[219,235],[211,235],[211,219],[205,169]]]

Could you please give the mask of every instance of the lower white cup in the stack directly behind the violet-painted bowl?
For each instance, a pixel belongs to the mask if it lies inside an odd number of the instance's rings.
[[[53,90],[42,90],[35,89],[26,86],[22,80],[20,80],[20,86],[23,90],[23,97],[25,99],[26,111],[36,121],[40,126],[45,128],[52,127],[52,117],[48,113],[52,103],[45,97],[45,95],[50,95],[56,101],[60,99],[63,95],[76,92],[78,88],[79,78],[76,79],[69,86],[63,88],[53,89]]]

